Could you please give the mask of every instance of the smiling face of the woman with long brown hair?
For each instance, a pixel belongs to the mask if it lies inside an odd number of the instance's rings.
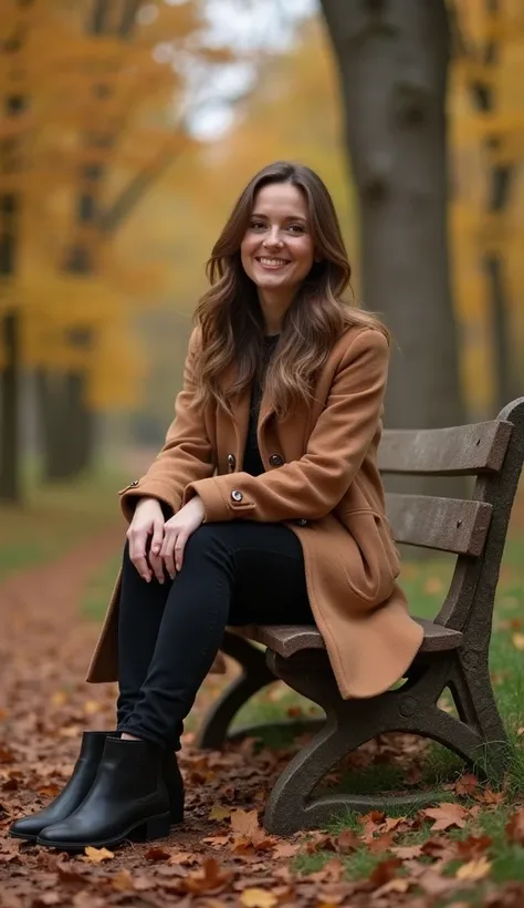
[[[240,245],[242,266],[262,291],[290,296],[314,261],[305,196],[291,183],[271,183],[256,193],[250,225]]]

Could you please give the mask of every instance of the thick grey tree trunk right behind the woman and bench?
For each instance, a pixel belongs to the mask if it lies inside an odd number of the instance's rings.
[[[322,0],[342,76],[360,207],[366,308],[400,348],[386,422],[464,421],[447,239],[443,0]],[[420,486],[419,486],[420,488]]]

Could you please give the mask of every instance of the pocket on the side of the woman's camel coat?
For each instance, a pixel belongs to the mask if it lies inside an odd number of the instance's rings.
[[[387,518],[376,510],[348,510],[342,522],[354,546],[344,559],[348,586],[367,605],[379,605],[392,592],[400,572],[400,559]],[[352,557],[353,556],[353,557]]]

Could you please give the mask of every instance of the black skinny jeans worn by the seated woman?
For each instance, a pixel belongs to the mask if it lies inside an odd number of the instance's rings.
[[[227,625],[315,623],[302,545],[283,524],[205,524],[182,568],[147,584],[124,550],[117,729],[180,750],[184,719]]]

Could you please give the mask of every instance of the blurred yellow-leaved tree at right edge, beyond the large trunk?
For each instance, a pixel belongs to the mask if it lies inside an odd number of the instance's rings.
[[[476,177],[476,210],[462,231],[475,235],[479,274],[485,286],[491,339],[491,413],[518,394],[515,301],[511,299],[511,203],[524,147],[522,96],[512,87],[522,73],[524,9],[515,0],[454,0],[450,6],[454,49],[454,96],[465,91],[476,115],[461,111],[457,147],[480,144],[480,161],[458,182]],[[481,184],[481,185],[479,185]],[[483,186],[482,186],[483,184]],[[472,214],[470,208],[470,214]]]

